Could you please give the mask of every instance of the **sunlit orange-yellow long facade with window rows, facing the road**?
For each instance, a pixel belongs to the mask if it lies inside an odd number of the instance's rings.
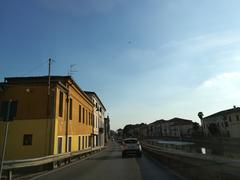
[[[59,116],[59,96],[60,91],[63,92],[63,115]],[[82,136],[91,136],[93,127],[92,122],[89,123],[89,112],[90,112],[90,121],[92,121],[92,113],[93,113],[93,104],[86,98],[86,95],[83,92],[80,92],[74,86],[69,87],[69,98],[72,99],[72,120],[68,118],[68,137],[72,137],[72,151],[78,151],[78,137],[81,137],[80,147],[82,149]],[[58,137],[63,137],[62,139],[62,152],[68,152],[68,147],[66,151],[66,126],[67,126],[67,92],[64,91],[60,86],[57,87],[56,90],[56,121],[55,121],[55,138],[54,138],[54,154],[58,152]],[[81,112],[83,113],[83,108],[85,111],[85,122],[83,123],[83,117],[81,117],[81,121],[79,122],[79,105],[81,105]],[[70,111],[70,108],[69,108]],[[87,114],[86,114],[87,112]],[[69,115],[69,113],[68,113]],[[81,115],[82,116],[82,115]],[[84,140],[85,142],[86,140]],[[84,147],[88,147],[87,146]]]

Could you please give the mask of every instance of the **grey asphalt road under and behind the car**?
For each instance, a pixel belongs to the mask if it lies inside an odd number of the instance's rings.
[[[162,166],[159,161],[143,155],[142,158],[122,159],[119,144],[84,161],[38,177],[39,180],[178,180],[179,177]]]

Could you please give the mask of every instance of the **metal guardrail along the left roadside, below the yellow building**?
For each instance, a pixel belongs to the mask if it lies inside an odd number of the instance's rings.
[[[64,154],[50,155],[39,158],[23,159],[23,160],[8,160],[3,162],[3,170],[7,172],[7,179],[11,180],[13,171],[20,168],[30,168],[35,166],[49,165],[50,169],[59,166],[60,162],[65,164],[70,163],[74,158],[81,158],[90,154],[96,153],[104,149],[104,147],[97,147],[76,152],[69,152]]]

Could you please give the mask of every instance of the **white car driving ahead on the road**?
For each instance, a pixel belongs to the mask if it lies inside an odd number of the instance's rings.
[[[122,141],[122,158],[128,155],[142,157],[142,147],[137,138],[127,138]]]

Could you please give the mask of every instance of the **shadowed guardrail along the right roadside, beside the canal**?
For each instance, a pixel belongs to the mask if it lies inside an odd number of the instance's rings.
[[[229,179],[229,177],[230,179],[240,179],[239,159],[235,160],[220,156],[187,153],[174,149],[167,150],[146,142],[142,142],[142,147],[145,151],[159,158],[163,158],[169,165],[175,166],[176,170],[181,169],[180,171],[185,171],[184,173],[187,175],[189,175],[191,171],[197,173],[197,179],[204,179],[206,175],[210,174],[213,179],[219,179],[219,177],[224,179],[221,176],[224,176],[225,179]],[[193,176],[193,173],[190,176]],[[195,176],[192,178],[195,178]]]

